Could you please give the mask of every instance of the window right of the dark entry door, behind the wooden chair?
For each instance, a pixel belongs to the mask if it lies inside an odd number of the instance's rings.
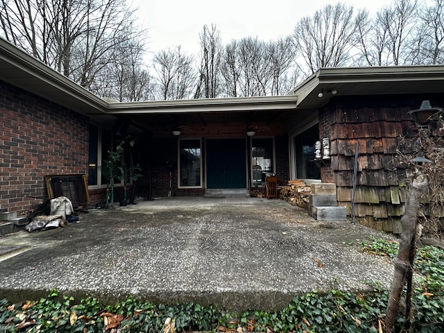
[[[274,172],[273,138],[251,139],[253,186],[261,186],[266,173]]]

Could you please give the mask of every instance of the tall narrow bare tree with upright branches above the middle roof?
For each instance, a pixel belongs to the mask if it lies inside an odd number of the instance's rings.
[[[199,83],[195,98],[215,98],[221,93],[220,71],[222,44],[220,31],[212,24],[211,28],[203,26],[200,39]]]

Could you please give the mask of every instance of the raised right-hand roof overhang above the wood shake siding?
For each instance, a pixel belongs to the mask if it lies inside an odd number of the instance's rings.
[[[334,90],[337,96],[443,92],[444,66],[322,68],[292,93],[298,96],[298,108],[320,108]]]

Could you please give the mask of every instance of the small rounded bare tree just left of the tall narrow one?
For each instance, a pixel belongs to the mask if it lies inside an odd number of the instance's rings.
[[[189,99],[196,83],[194,58],[175,49],[166,49],[155,53],[154,70],[157,74],[158,99]]]

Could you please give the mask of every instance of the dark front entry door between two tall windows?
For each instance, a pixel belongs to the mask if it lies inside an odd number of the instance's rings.
[[[208,139],[207,188],[246,188],[245,139]]]

